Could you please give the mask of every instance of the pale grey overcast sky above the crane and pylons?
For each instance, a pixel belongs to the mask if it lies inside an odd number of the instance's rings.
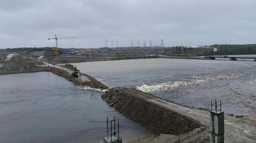
[[[255,0],[0,0],[0,48],[256,43]]]

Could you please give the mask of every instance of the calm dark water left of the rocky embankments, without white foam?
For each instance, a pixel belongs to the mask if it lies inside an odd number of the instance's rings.
[[[0,143],[85,143],[106,136],[106,117],[125,141],[152,135],[109,107],[102,92],[50,72],[0,75]]]

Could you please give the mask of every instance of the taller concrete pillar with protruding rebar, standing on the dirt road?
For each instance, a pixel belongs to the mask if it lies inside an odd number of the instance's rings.
[[[213,108],[214,107],[214,108]],[[220,109],[218,109],[218,107]],[[221,110],[221,101],[211,102],[210,110],[210,143],[224,143],[224,112]]]

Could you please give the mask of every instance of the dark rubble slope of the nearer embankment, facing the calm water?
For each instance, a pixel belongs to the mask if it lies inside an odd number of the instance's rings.
[[[147,101],[152,96],[133,88],[115,87],[102,94],[102,99],[154,134],[180,135],[201,127],[198,121]]]

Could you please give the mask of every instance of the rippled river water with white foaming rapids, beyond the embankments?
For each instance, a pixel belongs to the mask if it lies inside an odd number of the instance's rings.
[[[221,100],[228,114],[256,117],[256,62],[137,59],[72,63],[109,87],[136,87],[195,108]]]

